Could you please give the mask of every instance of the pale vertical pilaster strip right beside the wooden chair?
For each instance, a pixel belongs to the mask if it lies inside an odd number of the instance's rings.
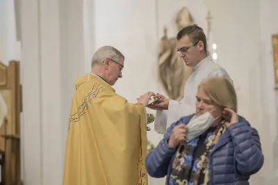
[[[22,166],[24,184],[42,184],[39,2],[22,3]]]

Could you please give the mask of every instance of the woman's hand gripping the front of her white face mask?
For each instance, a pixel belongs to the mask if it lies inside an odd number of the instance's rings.
[[[168,140],[168,146],[176,148],[177,145],[183,143],[186,140],[187,131],[188,127],[186,126],[186,124],[179,124],[175,126],[170,139]]]

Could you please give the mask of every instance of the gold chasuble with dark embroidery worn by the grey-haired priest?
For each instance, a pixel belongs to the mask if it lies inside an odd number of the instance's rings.
[[[63,185],[147,185],[146,111],[85,74],[76,92],[67,134]]]

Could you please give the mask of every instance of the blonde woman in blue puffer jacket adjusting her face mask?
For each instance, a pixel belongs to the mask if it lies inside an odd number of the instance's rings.
[[[237,115],[234,87],[223,77],[198,88],[196,113],[174,122],[149,152],[147,171],[167,185],[245,185],[263,166],[259,134]]]

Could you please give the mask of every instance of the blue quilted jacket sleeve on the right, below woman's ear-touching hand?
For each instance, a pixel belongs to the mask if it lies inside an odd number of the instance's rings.
[[[241,175],[253,175],[263,166],[261,142],[256,129],[247,122],[238,122],[228,128],[235,148],[236,168]]]

